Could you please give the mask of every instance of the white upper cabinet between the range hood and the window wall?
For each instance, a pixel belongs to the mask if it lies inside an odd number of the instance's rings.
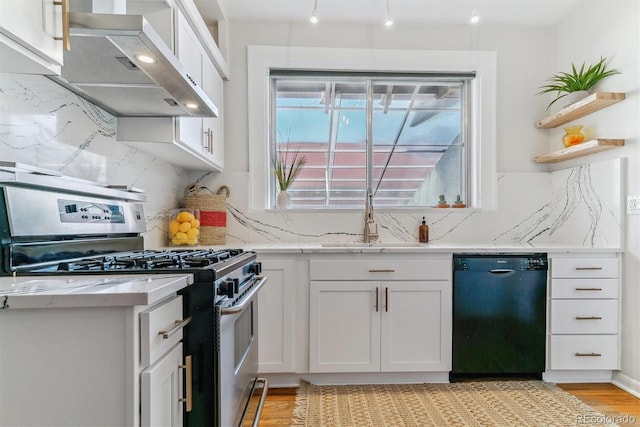
[[[148,151],[190,170],[221,171],[224,166],[224,78],[228,65],[209,26],[191,0],[179,0],[169,9],[153,8],[153,2],[135,2],[159,32],[193,81],[218,107],[217,117],[118,118],[118,140]],[[132,9],[131,7],[129,8]],[[168,33],[166,28],[170,27]],[[168,37],[170,35],[170,37]]]

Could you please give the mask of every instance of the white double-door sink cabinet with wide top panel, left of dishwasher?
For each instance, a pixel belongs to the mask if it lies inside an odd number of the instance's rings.
[[[450,258],[312,260],[311,279],[310,372],[451,369]]]

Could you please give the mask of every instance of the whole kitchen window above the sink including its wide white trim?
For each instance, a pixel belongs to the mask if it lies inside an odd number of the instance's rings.
[[[495,52],[248,46],[247,73],[250,210],[275,208],[287,146],[308,160],[290,212],[360,210],[369,186],[383,209],[497,208]]]

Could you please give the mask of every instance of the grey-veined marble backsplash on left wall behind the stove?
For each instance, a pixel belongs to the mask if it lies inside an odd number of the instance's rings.
[[[116,140],[116,119],[43,76],[0,73],[0,160],[147,192],[145,246],[167,244],[186,171]]]

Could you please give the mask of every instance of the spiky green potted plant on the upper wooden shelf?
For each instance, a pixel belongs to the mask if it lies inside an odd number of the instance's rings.
[[[586,67],[583,62],[580,69],[577,69],[574,64],[571,64],[571,73],[560,72],[552,75],[547,79],[548,84],[540,86],[541,90],[537,95],[550,92],[556,93],[556,97],[547,106],[548,110],[558,100],[565,98],[570,94],[577,93],[575,99],[572,99],[567,105],[572,104],[588,96],[589,89],[591,89],[600,80],[614,74],[620,74],[620,71],[617,69],[607,70],[605,62],[606,58],[600,57],[600,61],[588,67]]]

